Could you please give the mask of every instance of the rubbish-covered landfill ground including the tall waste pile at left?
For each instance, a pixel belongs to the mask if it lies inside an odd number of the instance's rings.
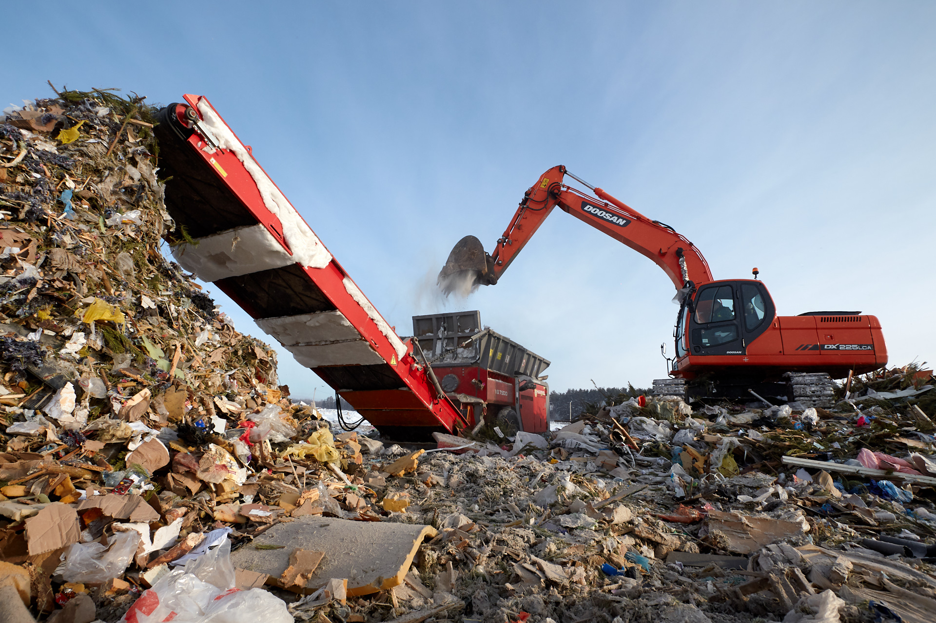
[[[512,441],[344,431],[161,253],[153,113],[0,121],[0,623],[936,620],[929,370],[826,408],[608,396]]]

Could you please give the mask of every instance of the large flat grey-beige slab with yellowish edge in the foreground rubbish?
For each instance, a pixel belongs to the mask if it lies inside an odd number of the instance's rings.
[[[283,549],[241,547],[231,553],[231,561],[239,569],[267,573],[267,583],[278,586],[295,550],[323,552],[325,558],[306,587],[290,590],[312,593],[331,578],[346,578],[348,597],[356,597],[400,586],[419,543],[435,535],[431,526],[305,515],[276,524],[254,540],[255,546],[285,545]]]

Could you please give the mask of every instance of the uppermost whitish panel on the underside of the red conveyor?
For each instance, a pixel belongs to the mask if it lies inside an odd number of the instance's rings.
[[[172,256],[182,268],[203,282],[216,282],[259,270],[283,268],[296,263],[263,225],[236,227],[172,247]]]

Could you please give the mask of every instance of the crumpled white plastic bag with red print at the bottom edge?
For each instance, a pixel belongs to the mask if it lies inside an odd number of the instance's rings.
[[[293,623],[283,600],[263,588],[234,587],[230,541],[159,578],[121,619],[126,623]]]

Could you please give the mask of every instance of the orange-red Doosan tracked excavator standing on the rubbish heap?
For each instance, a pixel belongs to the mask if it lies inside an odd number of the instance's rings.
[[[587,194],[564,183],[569,177]],[[695,245],[670,225],[654,221],[601,188],[552,167],[519,202],[493,251],[474,236],[461,239],[439,273],[448,294],[499,283],[504,271],[556,207],[650,258],[676,287],[680,304],[673,332],[669,378],[653,382],[654,395],[797,401],[830,406],[832,379],[863,374],[887,363],[881,324],[861,312],[777,315],[767,286],[757,279],[715,280]],[[665,355],[665,344],[661,346]]]

